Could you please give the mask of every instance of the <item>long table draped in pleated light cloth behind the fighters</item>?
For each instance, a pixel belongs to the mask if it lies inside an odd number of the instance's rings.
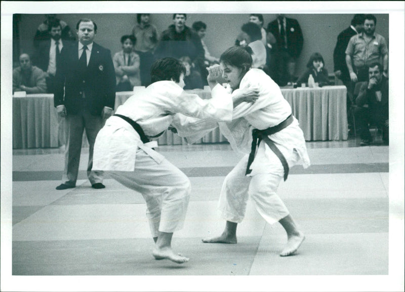
[[[211,98],[209,90],[190,90],[203,99]],[[281,89],[290,103],[294,116],[307,141],[347,140],[346,87]],[[118,92],[115,108],[134,92]],[[64,144],[64,119],[54,107],[52,94],[31,94],[13,98],[13,149],[53,148]],[[83,146],[87,146],[84,139]],[[219,129],[201,139],[200,143],[227,141]],[[185,144],[184,139],[166,131],[159,145]]]

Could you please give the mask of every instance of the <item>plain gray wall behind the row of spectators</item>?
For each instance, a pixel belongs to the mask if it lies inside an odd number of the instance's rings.
[[[343,29],[350,25],[353,14],[286,14],[300,23],[304,35],[304,47],[297,64],[297,73],[305,70],[309,56],[314,52],[322,54],[328,71],[333,72],[333,50],[336,39]],[[375,14],[377,18],[376,32],[388,41],[388,14]],[[76,22],[80,18],[92,18],[98,26],[96,42],[107,47],[111,53],[121,49],[119,39],[128,34],[136,23],[136,14],[59,14],[58,18],[66,21],[75,31]],[[276,18],[275,14],[264,14],[264,27]],[[20,22],[21,52],[32,53],[32,38],[38,25],[43,22],[43,14],[23,14]],[[212,55],[219,57],[221,53],[233,46],[240,26],[249,20],[249,14],[187,14],[186,24],[191,27],[194,21],[207,24],[207,35],[204,39]],[[158,32],[172,24],[172,14],[151,14],[151,22]]]

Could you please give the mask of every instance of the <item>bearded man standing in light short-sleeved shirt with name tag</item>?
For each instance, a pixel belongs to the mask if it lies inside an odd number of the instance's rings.
[[[365,16],[363,32],[350,38],[346,49],[346,65],[353,82],[367,81],[369,65],[382,59],[384,75],[388,74],[388,48],[385,38],[376,33],[377,19]]]

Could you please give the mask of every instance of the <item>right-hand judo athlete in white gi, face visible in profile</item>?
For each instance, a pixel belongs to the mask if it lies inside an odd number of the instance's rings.
[[[207,122],[179,114],[172,124],[189,143],[219,126],[231,147],[245,153],[222,186],[219,210],[226,220],[225,230],[222,235],[203,241],[236,243],[236,227],[244,219],[250,196],[259,214],[269,224],[279,222],[285,228],[288,242],[280,256],[289,256],[297,251],[305,236],[298,230],[276,191],[281,179],[287,179],[291,166],[301,163],[307,168],[310,161],[304,135],[298,120],[292,115],[290,104],[275,82],[262,70],[251,69],[251,64],[252,58],[246,50],[232,47],[222,54],[220,65],[214,65],[222,69],[222,77],[228,86],[222,87],[217,84],[215,76],[211,76],[209,85],[213,98],[226,98],[246,88],[255,88],[259,92],[255,103],[234,105],[231,122]]]

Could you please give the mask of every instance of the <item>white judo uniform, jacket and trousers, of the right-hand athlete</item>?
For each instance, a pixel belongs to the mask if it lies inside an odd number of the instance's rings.
[[[245,156],[226,176],[219,199],[221,217],[227,221],[240,223],[246,213],[249,197],[256,210],[273,224],[290,213],[277,195],[277,188],[284,178],[284,168],[277,155],[262,141],[257,148],[255,159],[250,167],[251,174],[245,175],[251,150],[252,130],[264,130],[284,121],[291,113],[290,104],[284,99],[279,87],[262,70],[250,69],[240,81],[239,88],[259,89],[259,99],[253,103],[241,103],[233,109],[232,122],[207,122],[183,115],[176,115],[173,124],[179,136],[189,143],[219,126],[233,150]],[[232,94],[220,86],[213,88],[213,97]],[[310,165],[305,139],[298,120],[287,128],[268,136],[284,155],[291,168],[296,164]]]

